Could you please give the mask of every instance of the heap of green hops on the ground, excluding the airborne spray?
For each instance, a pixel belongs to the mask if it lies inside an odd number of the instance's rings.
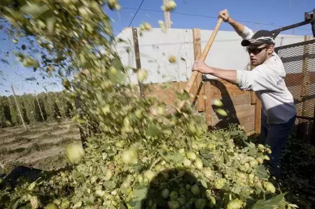
[[[268,148],[236,145],[239,128],[207,133],[188,126],[193,137],[147,127],[147,137],[135,142],[123,135],[89,138],[85,151],[78,144],[67,148],[67,160],[76,163],[72,171],[7,188],[1,198],[10,197],[6,207],[54,209],[294,207],[268,181],[262,165]]]

